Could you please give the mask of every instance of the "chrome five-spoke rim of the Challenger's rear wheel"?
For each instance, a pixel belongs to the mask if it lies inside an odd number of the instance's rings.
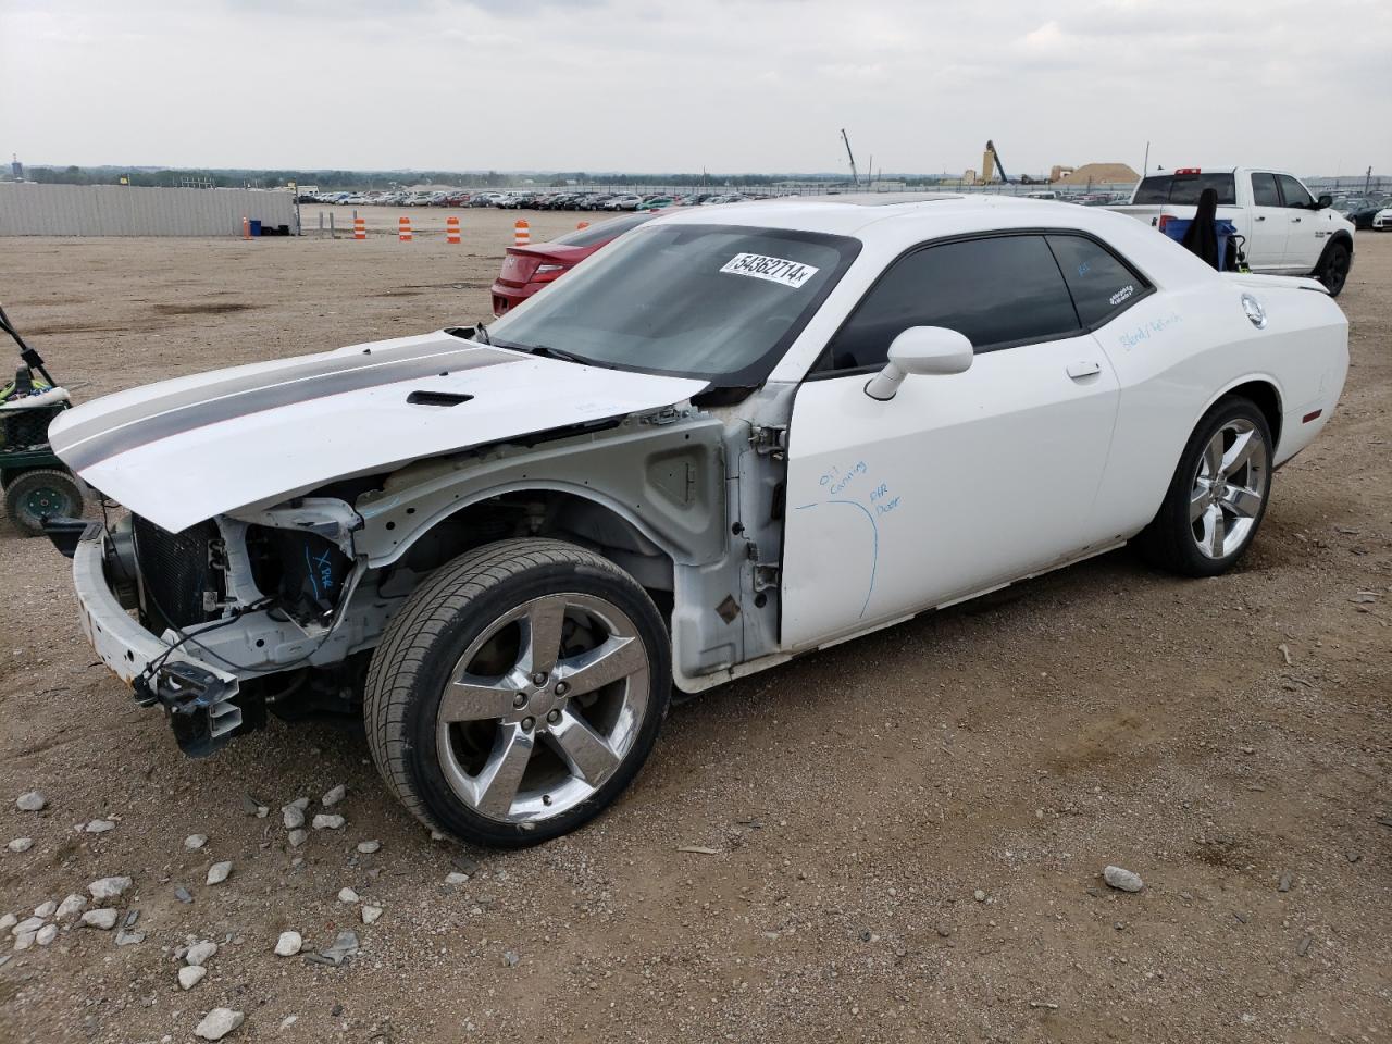
[[[1247,540],[1267,489],[1267,443],[1256,425],[1235,418],[1204,447],[1189,494],[1189,525],[1199,550],[1225,558]]]

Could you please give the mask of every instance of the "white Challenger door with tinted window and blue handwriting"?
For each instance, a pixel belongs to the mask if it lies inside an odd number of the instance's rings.
[[[1070,298],[1075,283],[1083,291]],[[1073,235],[965,239],[895,262],[793,402],[782,646],[856,633],[1109,543],[1093,503],[1118,383],[1073,299],[1116,312],[1146,292]],[[892,400],[871,400],[866,381],[912,326],[966,334],[972,367],[910,376]]]

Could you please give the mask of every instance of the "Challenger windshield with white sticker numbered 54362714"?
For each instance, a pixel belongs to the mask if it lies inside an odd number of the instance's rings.
[[[503,348],[753,387],[859,251],[841,235],[651,224],[498,319],[487,337]]]

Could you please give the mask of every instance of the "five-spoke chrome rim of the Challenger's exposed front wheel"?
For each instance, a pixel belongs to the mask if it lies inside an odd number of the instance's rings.
[[[450,672],[440,766],[480,816],[550,818],[618,770],[649,692],[647,650],[622,610],[590,594],[533,599],[489,624]]]

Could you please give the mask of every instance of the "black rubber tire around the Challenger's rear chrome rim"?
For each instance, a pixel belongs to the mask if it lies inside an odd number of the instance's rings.
[[[1251,526],[1239,546],[1228,550],[1226,554],[1214,557],[1205,554],[1200,547],[1196,526],[1203,523],[1192,521],[1190,503],[1203,466],[1205,447],[1219,432],[1235,422],[1250,425],[1265,450],[1264,466],[1254,486],[1260,490],[1261,500],[1256,514],[1251,515]],[[1215,402],[1189,437],[1160,511],[1133,541],[1141,557],[1151,565],[1180,576],[1218,576],[1231,569],[1246,554],[1261,529],[1263,518],[1265,518],[1267,505],[1271,503],[1271,459],[1274,452],[1271,427],[1256,402],[1240,395],[1229,395]]]

